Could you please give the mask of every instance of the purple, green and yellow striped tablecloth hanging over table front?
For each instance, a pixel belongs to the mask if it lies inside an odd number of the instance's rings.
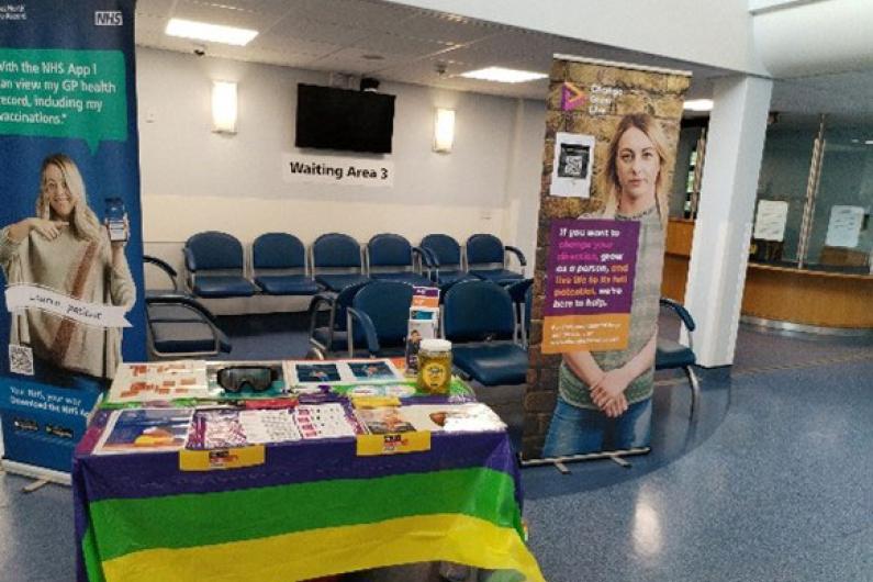
[[[289,443],[261,466],[182,472],[175,452],[91,455],[107,415],[74,461],[80,582],[290,582],[436,560],[544,580],[505,433],[383,457],[357,457],[350,438]]]

